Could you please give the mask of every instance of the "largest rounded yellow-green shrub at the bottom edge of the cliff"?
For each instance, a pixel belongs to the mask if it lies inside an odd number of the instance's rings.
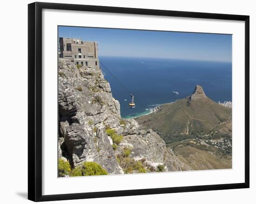
[[[97,164],[96,162],[84,162],[81,166],[74,168],[71,173],[72,177],[95,175],[108,175],[108,171],[103,169],[101,165]]]

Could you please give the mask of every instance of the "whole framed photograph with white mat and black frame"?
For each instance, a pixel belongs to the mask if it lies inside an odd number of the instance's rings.
[[[249,16],[29,4],[28,94],[30,200],[249,188]]]

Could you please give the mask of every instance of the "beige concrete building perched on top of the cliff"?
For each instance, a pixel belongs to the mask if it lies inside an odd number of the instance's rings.
[[[76,65],[100,69],[98,42],[74,38],[59,38],[60,58],[70,59]]]

